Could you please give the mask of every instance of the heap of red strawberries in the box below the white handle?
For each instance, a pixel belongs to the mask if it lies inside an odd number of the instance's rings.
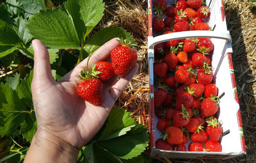
[[[219,110],[218,88],[212,83],[211,58],[206,56],[211,56],[213,43],[209,38],[189,38],[155,47],[155,56],[161,59],[154,63],[158,87],[154,107],[157,129],[163,132],[156,148],[173,150],[175,145],[175,150],[186,151],[189,138],[189,151],[221,151],[223,130],[214,117]]]

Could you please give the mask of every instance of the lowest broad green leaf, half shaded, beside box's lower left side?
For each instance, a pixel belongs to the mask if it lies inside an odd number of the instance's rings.
[[[100,141],[99,144],[104,149],[111,151],[122,159],[131,159],[140,155],[148,146],[147,128],[137,124],[132,127],[131,131],[124,136],[109,139],[108,141]]]

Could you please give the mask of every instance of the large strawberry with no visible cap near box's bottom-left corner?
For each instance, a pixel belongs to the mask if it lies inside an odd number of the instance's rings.
[[[179,127],[170,126],[166,129],[168,138],[166,139],[169,144],[181,144],[183,142],[183,132]]]

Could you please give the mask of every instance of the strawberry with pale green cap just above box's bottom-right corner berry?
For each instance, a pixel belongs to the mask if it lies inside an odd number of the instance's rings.
[[[210,137],[210,139],[212,141],[218,141],[223,132],[220,125],[218,125],[218,120],[214,119],[214,120],[208,120],[206,122],[208,123],[207,128],[206,128],[206,132],[207,132],[208,136]]]

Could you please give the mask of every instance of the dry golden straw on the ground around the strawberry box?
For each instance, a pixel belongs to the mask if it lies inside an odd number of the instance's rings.
[[[120,26],[139,45],[140,68],[117,105],[127,109],[139,123],[148,124],[147,1],[106,0],[102,27]],[[154,160],[154,162],[256,162],[256,9],[248,0],[223,0],[227,26],[232,35],[232,59],[243,120],[247,154],[228,160]]]

